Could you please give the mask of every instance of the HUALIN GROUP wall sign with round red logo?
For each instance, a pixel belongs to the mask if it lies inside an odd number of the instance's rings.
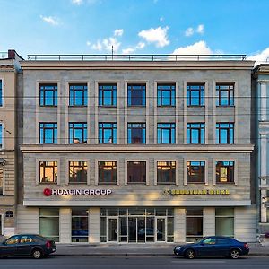
[[[50,195],[111,195],[112,190],[111,189],[51,189],[51,188],[45,188],[43,190],[43,194],[45,196]]]

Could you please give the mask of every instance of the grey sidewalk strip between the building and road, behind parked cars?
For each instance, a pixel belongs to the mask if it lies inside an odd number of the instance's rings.
[[[175,243],[155,244],[56,244],[56,256],[173,256]],[[269,246],[248,244],[249,256],[269,256]]]

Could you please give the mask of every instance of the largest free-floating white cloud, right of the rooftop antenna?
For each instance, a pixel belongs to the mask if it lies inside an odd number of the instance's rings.
[[[169,27],[166,26],[164,28],[151,28],[149,30],[142,30],[138,33],[139,37],[142,37],[149,43],[156,43],[156,47],[165,47],[169,45],[169,39],[167,37],[167,30]]]

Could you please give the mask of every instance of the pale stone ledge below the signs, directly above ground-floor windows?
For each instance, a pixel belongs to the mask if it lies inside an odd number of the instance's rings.
[[[122,200],[98,200],[98,201],[75,201],[75,200],[62,200],[62,201],[51,201],[46,199],[35,199],[35,200],[24,200],[24,206],[249,206],[251,205],[250,200],[173,200],[173,201],[122,201]]]

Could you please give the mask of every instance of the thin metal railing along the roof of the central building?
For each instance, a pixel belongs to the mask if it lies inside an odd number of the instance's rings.
[[[30,54],[30,61],[244,61],[247,56],[244,54],[221,54],[221,55],[94,55],[94,54]]]

